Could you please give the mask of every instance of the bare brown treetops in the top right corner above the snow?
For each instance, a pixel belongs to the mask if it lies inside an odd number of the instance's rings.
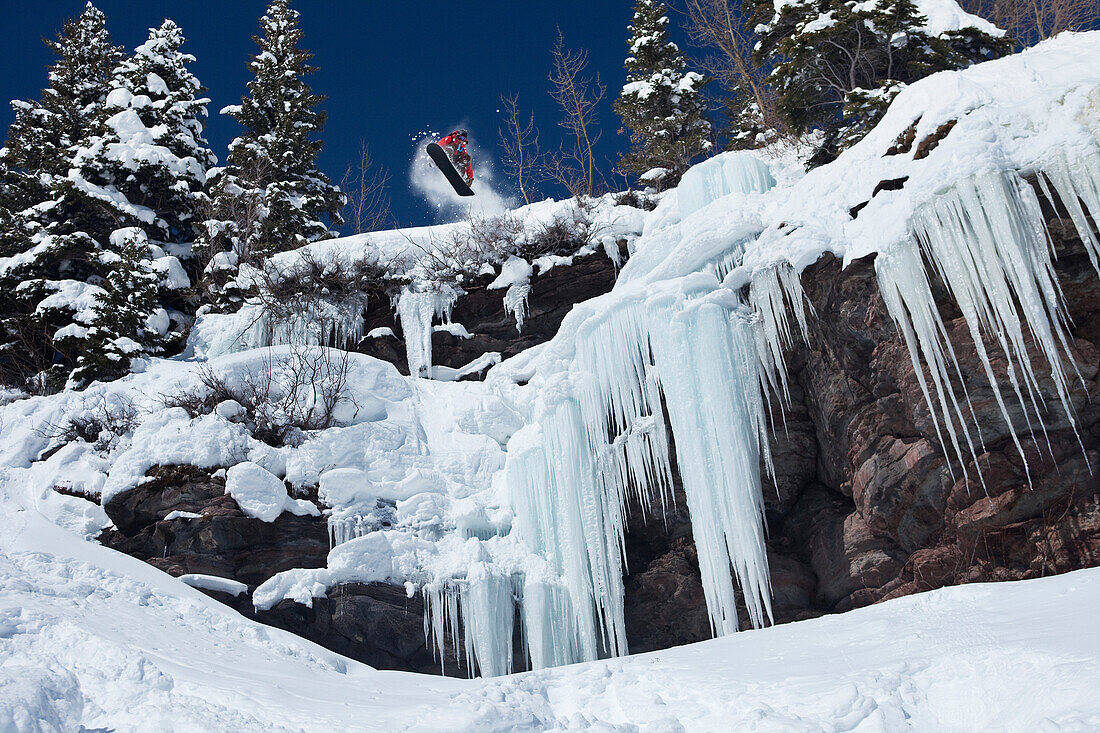
[[[967,12],[991,20],[1025,46],[1100,22],[1097,0],[961,0],[960,4]]]

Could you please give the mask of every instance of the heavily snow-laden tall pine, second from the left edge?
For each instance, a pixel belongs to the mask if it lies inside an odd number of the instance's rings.
[[[216,161],[201,135],[207,100],[197,97],[202,87],[187,70],[193,57],[180,53],[183,42],[178,26],[165,21],[117,66],[109,94],[89,106],[98,110],[95,133],[70,146],[67,175],[47,178],[47,200],[31,210],[32,248],[13,270],[22,318],[12,332],[25,341],[35,325],[44,331],[53,386],[74,366],[74,385],[119,375],[118,364],[129,361],[103,360],[105,333],[128,339],[127,350],[110,351],[120,359],[161,352],[162,332],[124,326],[132,318],[112,315],[116,302],[103,299],[110,293],[105,278],[124,282],[120,266],[147,261],[156,273],[160,293],[128,306],[147,306],[145,320],[162,322],[162,303],[187,309],[179,292],[190,282],[179,256],[189,255],[206,172]],[[134,228],[140,241],[117,234]],[[123,256],[124,242],[145,251]],[[133,282],[140,280],[135,274]],[[173,320],[183,324],[186,316]]]

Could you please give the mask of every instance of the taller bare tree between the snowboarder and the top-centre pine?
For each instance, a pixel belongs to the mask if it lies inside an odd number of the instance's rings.
[[[565,47],[561,29],[550,50],[553,69],[550,72],[550,96],[562,111],[559,122],[572,138],[571,145],[562,146],[548,158],[548,175],[565,186],[571,194],[592,196],[600,179],[595,145],[600,141],[596,109],[607,91],[600,75],[585,76],[588,52]]]

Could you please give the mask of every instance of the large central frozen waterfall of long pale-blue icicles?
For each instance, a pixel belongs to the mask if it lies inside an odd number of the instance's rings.
[[[514,526],[560,578],[525,589],[535,669],[626,652],[626,497],[632,491],[648,506],[671,486],[662,390],[712,625],[737,628],[735,576],[752,623],[771,616],[759,327],[728,291],[703,302],[713,289],[707,281],[690,296],[627,302],[585,322],[575,372],[543,389],[538,424],[508,444]]]

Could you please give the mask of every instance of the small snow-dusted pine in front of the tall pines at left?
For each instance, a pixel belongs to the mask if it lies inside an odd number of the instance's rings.
[[[169,327],[167,311],[157,305],[161,278],[153,271],[145,231],[118,229],[110,244],[100,255],[107,273],[97,288],[89,326],[73,335],[76,369],[69,379],[76,385],[124,375],[134,358],[161,350]]]

